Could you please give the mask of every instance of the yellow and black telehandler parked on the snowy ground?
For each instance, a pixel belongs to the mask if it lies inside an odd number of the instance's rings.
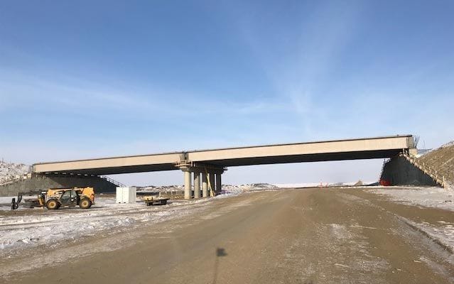
[[[28,192],[29,194],[30,192]],[[17,209],[23,195],[19,193],[17,200],[11,201],[11,209]],[[79,206],[82,209],[89,209],[94,204],[93,187],[55,188],[40,191],[37,199],[27,200],[28,207],[46,207],[47,209],[58,209],[60,207]]]

